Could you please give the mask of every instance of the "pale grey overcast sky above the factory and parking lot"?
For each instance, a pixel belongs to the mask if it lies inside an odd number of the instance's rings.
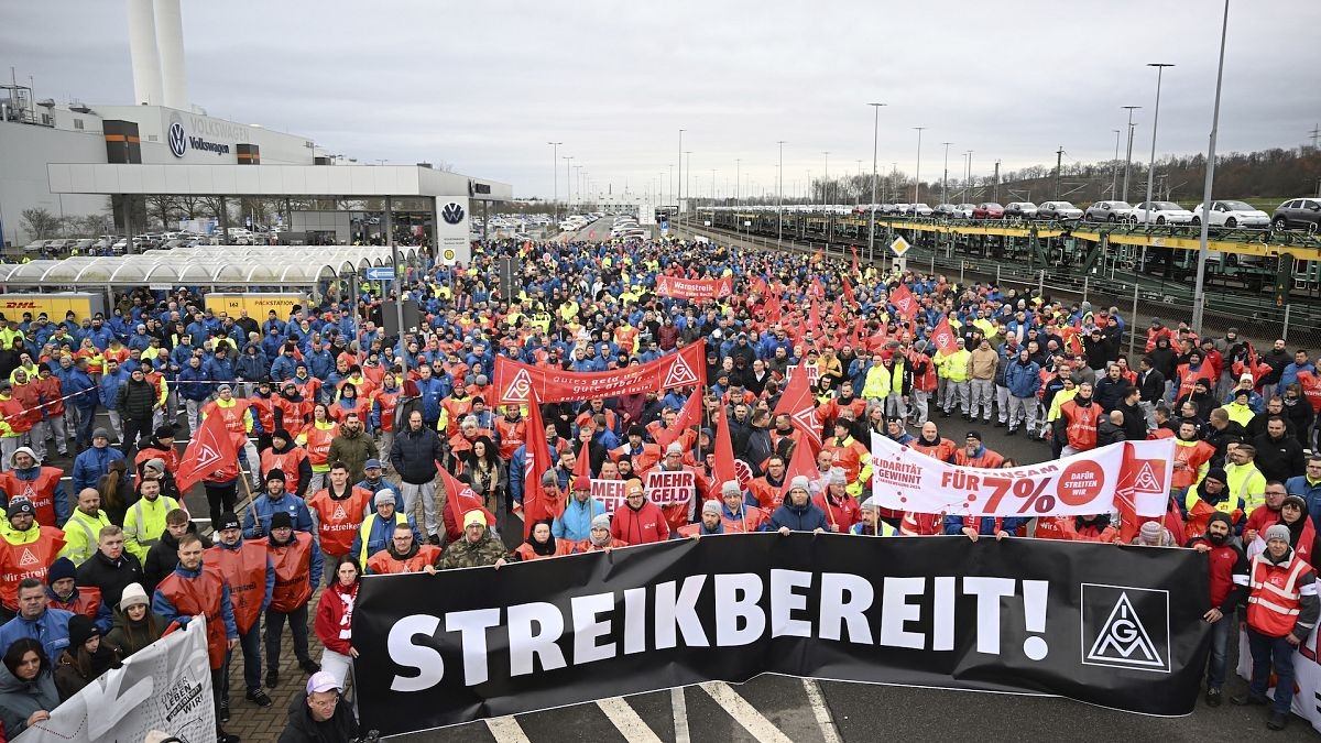
[[[123,0],[0,0],[0,62],[37,97],[132,99]],[[937,11],[937,8],[939,8]],[[184,0],[189,97],[213,116],[310,136],[361,163],[429,160],[551,196],[552,148],[601,190],[672,193],[679,149],[692,190],[785,190],[880,168],[923,180],[1114,156],[1136,112],[1133,156],[1205,152],[1218,0],[970,3],[547,3]],[[1283,22],[1281,22],[1283,19]],[[1219,152],[1297,147],[1321,120],[1316,0],[1232,0]],[[560,197],[565,161],[557,163]],[[687,169],[687,161],[684,163]],[[686,178],[687,180],[687,178]]]

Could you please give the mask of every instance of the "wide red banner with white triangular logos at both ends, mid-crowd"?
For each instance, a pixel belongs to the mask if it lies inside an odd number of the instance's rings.
[[[655,361],[614,372],[564,372],[495,357],[494,385],[499,405],[543,403],[659,393],[705,383],[707,342],[697,341]]]

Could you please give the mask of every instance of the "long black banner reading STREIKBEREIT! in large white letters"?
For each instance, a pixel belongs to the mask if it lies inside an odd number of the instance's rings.
[[[1206,557],[1044,539],[731,534],[363,580],[366,728],[782,673],[1193,710]]]

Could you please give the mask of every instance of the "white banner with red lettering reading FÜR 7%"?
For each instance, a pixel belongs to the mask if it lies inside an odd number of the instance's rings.
[[[1129,456],[1125,457],[1125,448]],[[1120,442],[1054,461],[958,467],[872,434],[872,496],[882,508],[958,516],[1164,516],[1174,440]],[[1123,484],[1123,485],[1122,485]]]

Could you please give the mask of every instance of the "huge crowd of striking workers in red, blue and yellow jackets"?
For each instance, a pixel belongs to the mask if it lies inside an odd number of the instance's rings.
[[[520,260],[511,296],[498,287],[502,258]],[[660,274],[728,276],[734,291],[660,296]],[[412,271],[406,292],[424,323],[402,338],[379,327],[369,287],[355,303],[263,319],[147,288],[108,317],[4,319],[7,735],[205,616],[221,726],[240,714],[229,695],[239,657],[242,705],[268,707],[267,690],[289,682],[288,624],[309,678],[283,739],[350,739],[357,723],[341,698],[363,575],[499,568],[740,531],[1210,551],[1206,703],[1221,703],[1238,616],[1255,666],[1251,691],[1234,701],[1262,703],[1273,668],[1268,722],[1287,721],[1289,650],[1321,612],[1310,567],[1321,547],[1321,390],[1306,350],[1276,341],[1259,353],[1234,329],[1198,337],[1186,323],[1136,328],[1112,307],[1030,288],[678,241],[478,243],[466,266]],[[1125,354],[1132,334],[1136,357]],[[530,411],[502,405],[493,385],[497,357],[610,372],[699,341],[701,386]],[[798,374],[811,385],[808,415],[782,405]],[[177,476],[184,440],[213,416],[239,467],[203,473],[203,514],[189,510]],[[956,416],[962,436],[950,438],[942,426]],[[528,430],[530,418],[543,427]],[[868,497],[873,432],[956,465],[1028,464],[987,447],[995,427],[1040,440],[1037,459],[1173,439],[1166,516],[1029,522],[894,512]],[[542,471],[527,464],[539,438],[553,457]],[[71,464],[52,465],[57,455]],[[741,476],[719,475],[724,456]],[[651,472],[691,473],[691,492],[653,502]],[[622,483],[618,504],[593,497],[602,480]],[[470,508],[454,508],[460,488],[472,490]],[[1288,591],[1266,595],[1285,579]]]

